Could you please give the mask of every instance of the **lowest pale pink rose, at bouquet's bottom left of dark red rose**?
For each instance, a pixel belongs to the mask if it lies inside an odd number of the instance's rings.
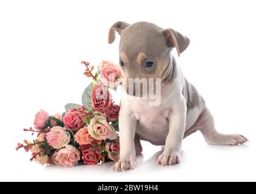
[[[73,167],[80,159],[80,153],[74,146],[67,145],[58,151],[56,161],[64,167]]]

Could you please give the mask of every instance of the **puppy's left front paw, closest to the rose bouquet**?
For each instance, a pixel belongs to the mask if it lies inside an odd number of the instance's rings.
[[[127,171],[133,170],[136,168],[136,158],[133,156],[129,156],[126,159],[120,159],[120,161],[113,164],[112,169],[117,171]]]

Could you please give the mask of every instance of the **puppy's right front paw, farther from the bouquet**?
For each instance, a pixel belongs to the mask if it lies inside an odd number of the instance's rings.
[[[180,152],[170,152],[169,154],[162,153],[157,160],[162,166],[179,164],[181,162]]]

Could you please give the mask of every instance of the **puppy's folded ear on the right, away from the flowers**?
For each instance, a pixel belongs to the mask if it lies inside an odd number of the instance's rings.
[[[181,35],[181,33],[172,30],[171,28],[163,30],[164,36],[166,37],[167,47],[175,47],[178,53],[178,56],[189,46],[189,38]]]

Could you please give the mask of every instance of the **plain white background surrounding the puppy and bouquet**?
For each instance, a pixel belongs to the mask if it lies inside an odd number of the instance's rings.
[[[255,1],[1,1],[1,181],[256,181]],[[190,38],[178,58],[223,133],[250,145],[208,146],[197,132],[183,142],[183,162],[155,164],[160,147],[143,142],[136,170],[115,173],[112,162],[73,169],[42,167],[16,143],[39,109],[63,112],[81,102],[89,79],[81,60],[118,63],[118,41],[107,44],[116,21],[153,22]],[[176,52],[174,55],[177,56]],[[159,153],[158,153],[159,154]],[[156,157],[156,156],[155,156]]]

